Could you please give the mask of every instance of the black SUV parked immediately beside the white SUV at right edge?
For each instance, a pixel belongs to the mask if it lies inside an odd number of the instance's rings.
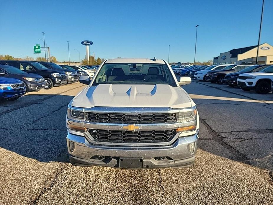
[[[235,73],[230,73],[226,74],[224,78],[224,84],[228,84],[231,87],[234,87],[237,85],[237,79],[240,74],[243,73],[252,73],[252,72],[260,72],[264,68],[268,67],[270,65],[254,65],[254,66],[249,66],[241,71],[235,72]]]

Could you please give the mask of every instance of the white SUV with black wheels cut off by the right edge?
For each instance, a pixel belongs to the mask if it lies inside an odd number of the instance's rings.
[[[273,65],[261,72],[244,73],[239,75],[237,85],[245,91],[254,90],[259,94],[267,94],[273,89]]]

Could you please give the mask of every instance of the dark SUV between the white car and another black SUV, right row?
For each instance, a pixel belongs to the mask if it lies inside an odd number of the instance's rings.
[[[217,82],[218,84],[223,84],[226,74],[241,71],[249,66],[251,65],[230,65],[230,66],[224,67],[222,70],[208,71],[206,80],[212,83]]]

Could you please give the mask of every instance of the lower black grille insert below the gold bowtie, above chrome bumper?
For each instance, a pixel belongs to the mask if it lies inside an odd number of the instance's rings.
[[[175,130],[119,131],[89,129],[88,132],[95,141],[120,143],[167,142],[176,134]]]

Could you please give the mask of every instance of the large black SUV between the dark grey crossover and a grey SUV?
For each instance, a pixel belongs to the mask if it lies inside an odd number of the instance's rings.
[[[67,76],[64,71],[48,69],[35,61],[0,61],[0,64],[13,66],[27,73],[41,75],[45,79],[45,89],[67,83]]]

